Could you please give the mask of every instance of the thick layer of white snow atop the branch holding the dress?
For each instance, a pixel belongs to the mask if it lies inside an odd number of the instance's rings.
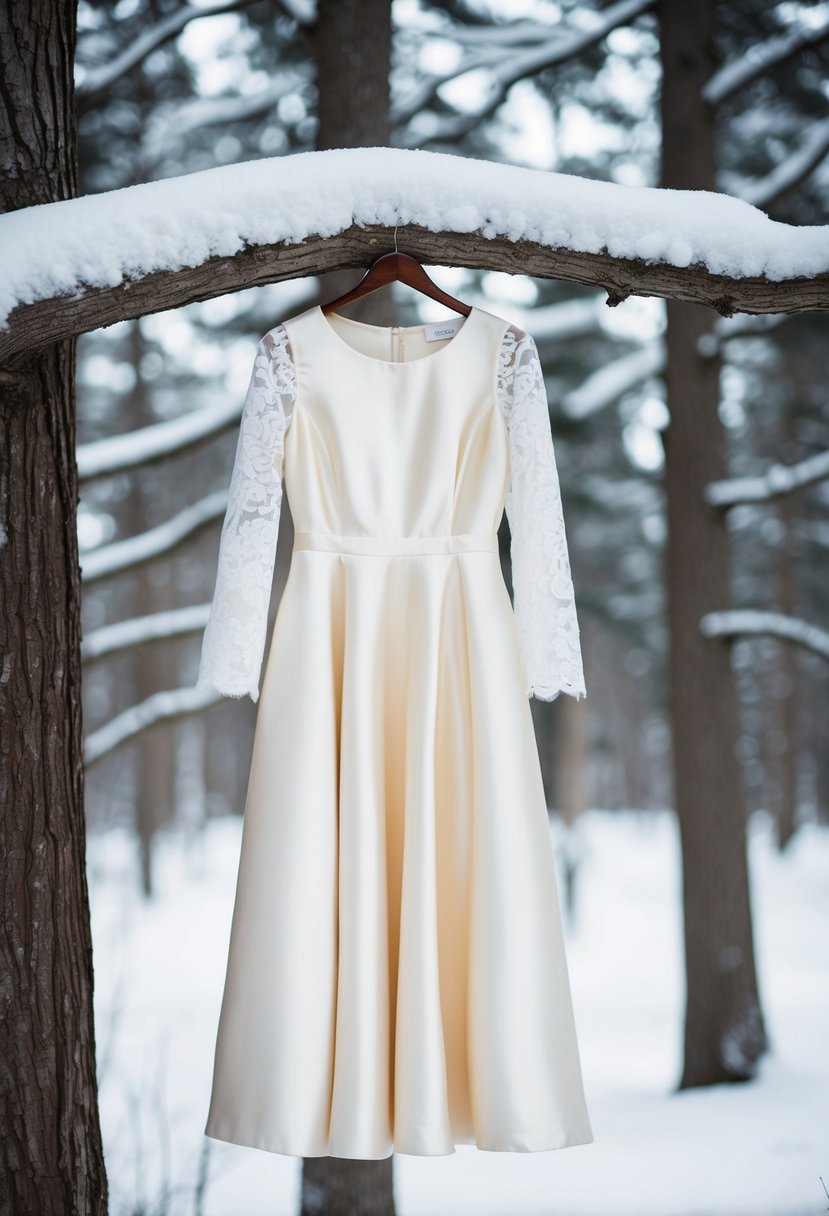
[[[780,281],[829,270],[829,226],[664,190],[408,148],[328,148],[221,165],[0,215],[0,328],[23,303],[199,266],[353,224],[417,224]],[[379,252],[379,249],[378,249]]]

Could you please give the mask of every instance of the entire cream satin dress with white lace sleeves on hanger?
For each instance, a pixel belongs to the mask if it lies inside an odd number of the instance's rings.
[[[314,306],[261,338],[196,687],[258,702],[205,1135],[591,1143],[528,700],[586,694],[530,334]]]

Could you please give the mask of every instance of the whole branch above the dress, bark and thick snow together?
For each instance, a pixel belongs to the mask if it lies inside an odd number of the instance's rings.
[[[776,223],[714,191],[327,148],[0,215],[0,362],[194,300],[363,268],[393,247],[397,223],[399,246],[427,264],[587,283],[611,304],[829,308],[829,226]]]

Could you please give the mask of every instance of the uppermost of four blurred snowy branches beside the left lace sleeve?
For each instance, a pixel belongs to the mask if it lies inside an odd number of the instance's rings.
[[[176,456],[232,427],[241,416],[241,398],[227,398],[168,422],[152,422],[123,435],[80,444],[77,449],[78,480],[89,482],[94,477],[123,473],[125,468],[145,467],[167,456]]]

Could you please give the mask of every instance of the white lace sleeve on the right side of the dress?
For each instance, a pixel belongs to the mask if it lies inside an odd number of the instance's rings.
[[[528,697],[586,697],[575,592],[549,428],[532,337],[509,326],[498,353],[498,402],[509,439],[513,608]]]

